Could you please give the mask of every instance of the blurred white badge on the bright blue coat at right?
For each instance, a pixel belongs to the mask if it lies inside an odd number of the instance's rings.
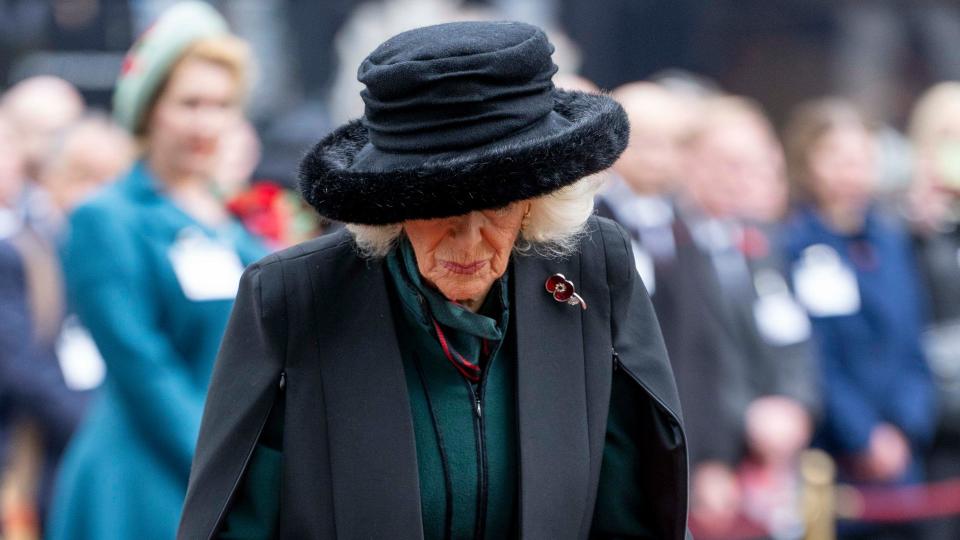
[[[857,276],[840,254],[825,244],[803,251],[793,268],[797,299],[814,317],[839,317],[860,311]]]

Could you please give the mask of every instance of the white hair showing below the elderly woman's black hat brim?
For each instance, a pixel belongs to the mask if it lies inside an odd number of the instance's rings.
[[[523,219],[514,250],[548,258],[573,254],[586,234],[587,219],[593,213],[593,197],[603,185],[603,173],[594,174],[530,200],[530,213]],[[367,258],[386,256],[403,233],[402,223],[389,225],[346,225],[360,254]]]

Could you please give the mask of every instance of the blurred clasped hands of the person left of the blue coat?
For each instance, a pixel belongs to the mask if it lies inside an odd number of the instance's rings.
[[[810,444],[813,420],[798,401],[764,396],[747,407],[746,436],[753,456],[772,466],[786,465]]]

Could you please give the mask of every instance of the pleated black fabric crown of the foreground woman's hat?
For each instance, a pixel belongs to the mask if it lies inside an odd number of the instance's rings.
[[[552,53],[542,30],[519,22],[399,34],[358,70],[370,142],[388,152],[445,152],[523,130],[553,110]]]

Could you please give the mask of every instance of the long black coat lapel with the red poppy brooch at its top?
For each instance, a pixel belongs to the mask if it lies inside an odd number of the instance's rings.
[[[581,283],[578,260],[514,260],[522,538],[575,538],[588,503],[583,311],[544,287],[558,272]]]

